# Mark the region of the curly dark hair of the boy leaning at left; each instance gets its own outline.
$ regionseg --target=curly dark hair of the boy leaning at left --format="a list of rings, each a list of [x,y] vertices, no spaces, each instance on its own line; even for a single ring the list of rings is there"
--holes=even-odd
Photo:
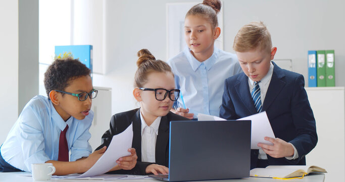
[[[72,79],[90,75],[90,73],[91,70],[78,59],[56,59],[44,73],[44,87],[48,98],[52,90],[64,90]]]

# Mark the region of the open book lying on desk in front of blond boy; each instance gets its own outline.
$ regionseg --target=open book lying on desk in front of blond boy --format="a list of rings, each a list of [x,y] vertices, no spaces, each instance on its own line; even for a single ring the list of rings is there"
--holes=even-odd
[[[290,178],[303,176],[305,173],[311,172],[327,172],[318,166],[305,165],[271,165],[266,168],[255,168],[251,170],[252,177],[273,177],[273,178]]]

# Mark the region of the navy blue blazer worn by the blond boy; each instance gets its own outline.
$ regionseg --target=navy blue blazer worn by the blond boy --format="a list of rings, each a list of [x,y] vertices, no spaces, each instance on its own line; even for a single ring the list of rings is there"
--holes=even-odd
[[[305,155],[316,146],[318,138],[315,118],[304,89],[304,77],[272,63],[273,75],[262,111],[266,111],[276,138],[293,144],[299,158],[288,160],[267,155],[268,165],[305,165]],[[220,117],[238,119],[256,113],[247,75],[239,73],[227,78]],[[258,150],[252,150],[251,168],[257,167],[257,161]]]

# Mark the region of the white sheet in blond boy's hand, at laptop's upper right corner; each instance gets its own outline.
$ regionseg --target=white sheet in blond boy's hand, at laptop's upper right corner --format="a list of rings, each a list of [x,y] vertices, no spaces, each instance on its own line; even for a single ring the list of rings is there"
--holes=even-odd
[[[252,120],[251,149],[261,149],[261,147],[258,147],[258,143],[273,145],[271,142],[264,140],[265,136],[275,139],[266,111],[237,120]]]

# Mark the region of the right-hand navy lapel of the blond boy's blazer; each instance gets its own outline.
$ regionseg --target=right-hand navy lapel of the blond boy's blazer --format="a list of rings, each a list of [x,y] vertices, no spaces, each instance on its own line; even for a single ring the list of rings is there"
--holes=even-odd
[[[285,74],[281,71],[281,68],[279,68],[278,65],[276,65],[274,62],[272,63],[274,65],[273,74],[267,89],[264,104],[262,106],[263,111],[268,109],[286,84],[286,82],[282,80]]]

